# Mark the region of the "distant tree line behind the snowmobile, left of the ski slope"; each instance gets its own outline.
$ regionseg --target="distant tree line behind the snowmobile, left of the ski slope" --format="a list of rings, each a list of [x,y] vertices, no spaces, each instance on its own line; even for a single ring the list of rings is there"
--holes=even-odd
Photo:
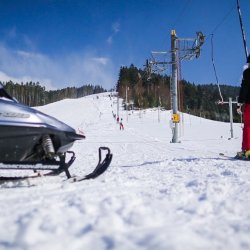
[[[99,85],[84,85],[79,88],[67,87],[47,91],[39,82],[26,82],[19,84],[8,81],[1,83],[11,96],[15,97],[19,102],[33,107],[60,101],[65,98],[79,98],[106,92],[106,90]]]

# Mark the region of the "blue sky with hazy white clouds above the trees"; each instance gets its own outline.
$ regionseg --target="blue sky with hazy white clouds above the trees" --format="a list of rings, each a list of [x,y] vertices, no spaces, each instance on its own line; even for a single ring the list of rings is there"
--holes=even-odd
[[[247,41],[250,1],[241,0]],[[169,51],[170,33],[206,42],[182,78],[240,85],[245,63],[236,0],[1,0],[0,80],[39,81],[47,88],[115,86],[119,68],[143,68],[151,51]],[[166,70],[170,74],[170,69]]]

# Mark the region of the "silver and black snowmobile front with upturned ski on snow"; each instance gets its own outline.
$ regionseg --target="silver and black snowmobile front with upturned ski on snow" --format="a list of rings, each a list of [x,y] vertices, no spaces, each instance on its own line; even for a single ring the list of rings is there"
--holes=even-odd
[[[69,149],[85,136],[54,117],[19,103],[0,83],[0,170],[33,170],[25,176],[0,176],[0,180],[26,179],[65,173],[68,179],[81,181],[95,178],[109,167],[112,154],[99,148],[99,162],[84,177],[72,177],[69,167],[75,153]],[[103,152],[106,152],[104,159]],[[7,171],[9,172],[9,171]]]

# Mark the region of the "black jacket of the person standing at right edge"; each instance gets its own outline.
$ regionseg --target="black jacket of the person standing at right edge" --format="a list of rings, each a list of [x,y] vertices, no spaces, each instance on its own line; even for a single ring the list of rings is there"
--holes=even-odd
[[[238,103],[250,103],[250,67],[243,71]]]

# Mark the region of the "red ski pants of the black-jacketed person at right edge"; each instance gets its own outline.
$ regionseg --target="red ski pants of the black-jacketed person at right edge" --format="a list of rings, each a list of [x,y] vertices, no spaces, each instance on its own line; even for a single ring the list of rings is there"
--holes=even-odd
[[[250,150],[250,104],[244,104],[243,119],[242,150]]]

